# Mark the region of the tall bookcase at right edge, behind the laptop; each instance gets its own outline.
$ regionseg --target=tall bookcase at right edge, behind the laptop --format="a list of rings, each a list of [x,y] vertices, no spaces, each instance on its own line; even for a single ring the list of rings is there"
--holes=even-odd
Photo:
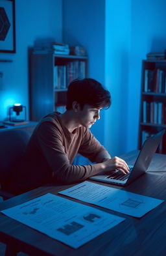
[[[166,60],[144,60],[142,63],[139,149],[147,137],[166,129]],[[158,153],[166,154],[166,135]]]

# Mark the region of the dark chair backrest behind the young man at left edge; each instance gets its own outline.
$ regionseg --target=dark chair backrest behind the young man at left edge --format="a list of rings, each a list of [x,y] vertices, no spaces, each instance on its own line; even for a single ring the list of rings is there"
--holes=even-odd
[[[25,130],[11,129],[0,132],[0,184],[16,169],[29,137]]]

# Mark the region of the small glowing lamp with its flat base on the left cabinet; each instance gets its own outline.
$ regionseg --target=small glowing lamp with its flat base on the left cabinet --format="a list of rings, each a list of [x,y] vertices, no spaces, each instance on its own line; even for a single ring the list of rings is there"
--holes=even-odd
[[[24,119],[17,119],[16,117],[21,113],[24,109]],[[12,111],[16,112],[16,117],[12,118]],[[9,108],[9,121],[4,121],[4,124],[9,125],[20,125],[20,124],[27,124],[27,112],[26,107],[21,105],[20,103],[14,104],[14,106]]]

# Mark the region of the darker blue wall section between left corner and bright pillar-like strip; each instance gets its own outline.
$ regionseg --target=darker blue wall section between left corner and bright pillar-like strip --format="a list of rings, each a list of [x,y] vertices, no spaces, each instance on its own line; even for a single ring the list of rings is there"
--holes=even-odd
[[[88,51],[89,78],[104,85],[105,1],[64,0],[64,41]],[[104,143],[104,113],[91,131]]]

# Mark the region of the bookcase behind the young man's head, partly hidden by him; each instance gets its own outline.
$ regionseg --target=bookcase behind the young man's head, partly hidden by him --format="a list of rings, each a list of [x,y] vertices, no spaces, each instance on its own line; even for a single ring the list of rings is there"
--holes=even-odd
[[[88,58],[53,53],[30,54],[30,120],[39,121],[53,111],[64,111],[67,85],[86,78]]]

